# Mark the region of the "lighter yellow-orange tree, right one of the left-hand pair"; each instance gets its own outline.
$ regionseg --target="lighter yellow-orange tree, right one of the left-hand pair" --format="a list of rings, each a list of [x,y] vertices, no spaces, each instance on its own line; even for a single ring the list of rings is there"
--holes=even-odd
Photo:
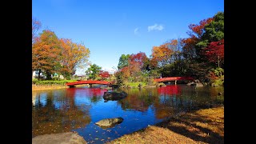
[[[60,39],[60,65],[59,71],[70,78],[78,67],[83,68],[88,62],[90,50],[82,43],[72,42],[71,39]]]

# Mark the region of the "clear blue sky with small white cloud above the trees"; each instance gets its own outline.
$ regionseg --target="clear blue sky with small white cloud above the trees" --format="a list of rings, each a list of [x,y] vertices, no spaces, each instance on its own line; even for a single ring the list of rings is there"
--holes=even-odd
[[[83,42],[90,62],[117,68],[122,54],[146,53],[188,26],[224,11],[224,0],[32,0],[32,15],[58,38]],[[84,70],[78,70],[82,74]]]

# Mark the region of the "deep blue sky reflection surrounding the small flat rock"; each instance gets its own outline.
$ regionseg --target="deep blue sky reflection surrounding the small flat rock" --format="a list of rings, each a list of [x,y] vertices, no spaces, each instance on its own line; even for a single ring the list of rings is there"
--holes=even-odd
[[[85,128],[74,130],[79,135],[86,139],[86,142],[106,142],[119,138],[124,134],[130,134],[134,131],[140,130],[148,125],[154,125],[161,120],[154,118],[154,110],[149,108],[146,112],[140,112],[137,110],[126,110],[123,112],[121,106],[117,106],[116,102],[103,102],[105,106],[99,103],[98,106],[92,106],[90,109],[91,122]],[[102,129],[95,125],[104,118],[124,118],[121,124],[118,124],[112,128]],[[146,122],[145,122],[146,120]],[[104,140],[102,140],[104,139]],[[102,141],[101,141],[102,140]]]

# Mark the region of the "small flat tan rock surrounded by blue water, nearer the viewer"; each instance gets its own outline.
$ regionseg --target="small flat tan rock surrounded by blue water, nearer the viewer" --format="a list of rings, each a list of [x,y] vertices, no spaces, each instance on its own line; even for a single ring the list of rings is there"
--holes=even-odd
[[[95,122],[96,125],[102,127],[102,128],[109,128],[109,127],[113,127],[119,123],[121,123],[123,121],[123,118],[119,117],[119,118],[106,118],[106,119],[102,119],[98,122]]]

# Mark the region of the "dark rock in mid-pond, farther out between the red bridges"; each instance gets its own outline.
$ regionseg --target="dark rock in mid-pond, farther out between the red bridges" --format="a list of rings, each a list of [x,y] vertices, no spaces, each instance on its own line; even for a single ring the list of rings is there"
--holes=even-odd
[[[117,92],[117,91],[106,91],[104,94],[103,94],[103,98],[105,101],[117,101],[119,99],[122,99],[122,98],[126,98],[127,96],[127,93],[122,91],[122,92]]]

